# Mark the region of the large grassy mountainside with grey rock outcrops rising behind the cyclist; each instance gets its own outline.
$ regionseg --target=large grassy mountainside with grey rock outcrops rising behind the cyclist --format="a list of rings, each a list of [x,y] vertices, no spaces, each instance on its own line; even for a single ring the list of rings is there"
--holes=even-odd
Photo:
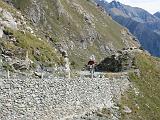
[[[127,30],[122,34],[122,26],[86,0],[14,0],[8,3],[22,12],[26,27],[31,29],[41,42],[55,48],[59,54],[67,51],[71,63],[76,67],[82,68],[92,54],[95,54],[99,61],[118,49],[139,46],[134,36]],[[23,27],[19,27],[18,30],[23,30]],[[17,44],[11,46],[16,47]],[[32,49],[32,45],[29,46],[29,56],[52,63],[53,55],[52,58],[48,58],[44,53],[44,57],[39,58],[43,50]],[[36,52],[40,55],[36,55]]]

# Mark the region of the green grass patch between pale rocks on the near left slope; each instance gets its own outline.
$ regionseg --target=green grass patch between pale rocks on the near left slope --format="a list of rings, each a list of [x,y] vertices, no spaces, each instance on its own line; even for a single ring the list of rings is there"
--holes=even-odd
[[[28,32],[24,34],[21,31],[11,29],[6,29],[5,32],[12,34],[16,38],[16,42],[3,41],[2,45],[17,57],[24,59],[26,54],[24,52],[28,51],[30,59],[44,63],[44,65],[53,65],[59,62],[58,53],[46,40],[39,40]],[[19,48],[25,50],[23,55],[17,54]]]

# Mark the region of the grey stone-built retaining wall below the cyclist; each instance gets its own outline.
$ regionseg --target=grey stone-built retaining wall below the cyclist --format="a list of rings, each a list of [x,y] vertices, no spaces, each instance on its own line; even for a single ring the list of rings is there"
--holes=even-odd
[[[0,117],[2,120],[119,120],[118,103],[130,86],[126,73],[95,72],[93,79],[89,71],[78,73],[80,76],[70,79],[0,78]],[[103,114],[102,109],[108,110],[109,115]]]

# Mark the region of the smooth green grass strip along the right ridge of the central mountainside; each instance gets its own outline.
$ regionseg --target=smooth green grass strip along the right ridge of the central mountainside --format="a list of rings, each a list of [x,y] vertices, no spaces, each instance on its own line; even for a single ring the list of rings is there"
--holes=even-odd
[[[101,9],[96,8],[91,2],[86,2],[86,0],[78,0],[79,4],[83,8],[94,15],[97,20],[94,20],[96,31],[100,33],[102,40],[101,42],[107,43],[112,42],[116,48],[120,49],[124,47],[121,40],[121,29],[122,27],[114,22],[109,16],[105,15]]]

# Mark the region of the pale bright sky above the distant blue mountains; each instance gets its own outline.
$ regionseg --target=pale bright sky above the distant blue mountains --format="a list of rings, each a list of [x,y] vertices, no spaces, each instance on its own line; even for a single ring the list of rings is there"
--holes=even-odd
[[[111,2],[112,0],[106,0],[106,1]],[[160,0],[117,0],[117,1],[133,7],[143,8],[152,14],[154,14],[157,11],[160,11]]]

